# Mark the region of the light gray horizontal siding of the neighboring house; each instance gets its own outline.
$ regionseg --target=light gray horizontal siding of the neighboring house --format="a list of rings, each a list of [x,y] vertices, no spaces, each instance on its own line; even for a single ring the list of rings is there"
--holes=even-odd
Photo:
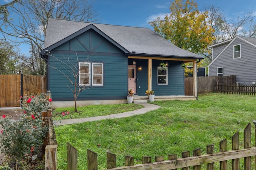
[[[233,46],[241,44],[241,58],[233,59]],[[217,68],[223,67],[223,76],[236,75],[236,81],[246,85],[256,82],[256,47],[236,38],[209,66],[209,76],[217,76]]]

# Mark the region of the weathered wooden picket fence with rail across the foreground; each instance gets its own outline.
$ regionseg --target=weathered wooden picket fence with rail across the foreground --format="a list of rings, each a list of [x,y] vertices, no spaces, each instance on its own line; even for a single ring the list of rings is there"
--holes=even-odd
[[[256,131],[256,122],[255,131]],[[256,155],[256,147],[251,147],[251,124],[244,129],[244,149],[239,148],[239,133],[232,136],[232,150],[227,151],[227,140],[220,141],[220,152],[214,153],[214,145],[206,146],[207,154],[201,155],[201,149],[193,150],[193,156],[190,157],[190,151],[182,152],[182,158],[177,158],[177,154],[168,155],[168,160],[164,156],[156,156],[156,162],[151,162],[150,156],[142,157],[142,164],[134,165],[132,156],[125,156],[125,166],[116,167],[116,155],[107,152],[107,169],[111,170],[200,170],[202,164],[206,164],[207,170],[214,170],[214,163],[220,162],[220,170],[227,170],[227,161],[232,160],[232,169],[239,170],[240,158],[244,158],[244,170],[251,170],[251,156]],[[67,170],[77,170],[77,150],[67,143],[68,147],[68,167]],[[88,170],[98,170],[97,153],[87,150]]]

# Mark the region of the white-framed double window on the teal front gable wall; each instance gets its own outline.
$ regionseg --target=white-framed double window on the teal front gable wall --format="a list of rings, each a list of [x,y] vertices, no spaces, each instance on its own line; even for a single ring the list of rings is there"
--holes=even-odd
[[[103,86],[103,63],[79,63],[80,86]]]

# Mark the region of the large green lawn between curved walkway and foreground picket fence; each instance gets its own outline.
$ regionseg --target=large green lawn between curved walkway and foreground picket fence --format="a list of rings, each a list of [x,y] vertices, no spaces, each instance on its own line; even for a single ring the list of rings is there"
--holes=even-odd
[[[79,170],[87,169],[87,149],[98,154],[98,168],[106,169],[106,150],[117,155],[119,167],[124,166],[125,155],[134,156],[134,163],[141,164],[142,156],[151,156],[154,162],[155,156],[168,160],[168,154],[177,154],[180,158],[181,152],[187,150],[192,156],[192,150],[197,148],[206,154],[206,145],[212,143],[214,152],[219,152],[219,142],[225,138],[231,150],[236,131],[240,133],[240,148],[243,148],[244,128],[256,119],[256,96],[202,94],[198,100],[154,104],[162,108],[122,119],[55,127],[58,170],[66,169],[66,142],[78,150]],[[251,126],[252,146],[255,146],[253,123]],[[228,161],[228,166],[231,162]],[[219,168],[218,164],[215,167]]]

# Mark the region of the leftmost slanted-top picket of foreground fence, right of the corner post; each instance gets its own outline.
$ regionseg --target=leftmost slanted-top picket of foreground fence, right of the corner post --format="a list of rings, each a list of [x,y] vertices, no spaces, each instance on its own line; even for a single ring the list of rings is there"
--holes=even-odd
[[[67,142],[67,170],[77,170],[77,150]]]

